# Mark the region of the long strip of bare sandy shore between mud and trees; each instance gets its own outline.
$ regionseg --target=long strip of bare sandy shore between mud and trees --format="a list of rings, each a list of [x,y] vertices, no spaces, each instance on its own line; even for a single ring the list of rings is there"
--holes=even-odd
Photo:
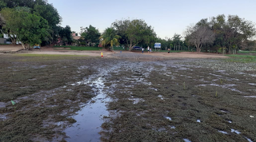
[[[6,52],[17,52],[22,49],[22,45],[0,45],[0,53]],[[26,51],[22,53],[33,53],[33,54],[58,54],[58,55],[87,55],[93,57],[100,57],[103,53],[104,57],[121,57],[121,58],[227,58],[215,53],[165,53],[165,52],[153,52],[153,53],[141,53],[129,52],[129,51],[114,51],[110,52],[107,50],[100,51],[76,51],[76,50],[66,50],[66,49],[53,49],[52,47],[42,47],[42,49],[35,49],[33,51]]]

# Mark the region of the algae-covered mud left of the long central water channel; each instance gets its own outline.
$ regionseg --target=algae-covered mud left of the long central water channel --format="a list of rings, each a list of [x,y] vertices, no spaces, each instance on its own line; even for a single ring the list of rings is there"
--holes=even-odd
[[[70,116],[80,109],[79,104],[94,97],[88,86],[69,85],[94,73],[93,69],[79,68],[91,65],[94,59],[13,55],[0,58],[0,102],[4,104],[0,114],[6,116],[0,120],[0,141],[52,140],[65,136],[62,126],[56,123],[62,121],[63,127],[74,123]],[[15,106],[10,104],[11,100],[16,102]]]

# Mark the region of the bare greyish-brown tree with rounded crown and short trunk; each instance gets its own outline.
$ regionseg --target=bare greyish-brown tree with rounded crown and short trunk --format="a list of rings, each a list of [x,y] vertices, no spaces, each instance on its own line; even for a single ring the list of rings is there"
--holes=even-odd
[[[214,32],[207,26],[195,26],[192,31],[188,38],[189,42],[196,46],[197,52],[201,52],[202,45],[213,43],[215,40]]]

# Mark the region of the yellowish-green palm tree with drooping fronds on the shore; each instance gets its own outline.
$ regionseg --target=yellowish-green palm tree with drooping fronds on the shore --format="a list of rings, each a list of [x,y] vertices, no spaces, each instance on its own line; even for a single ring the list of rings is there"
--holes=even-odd
[[[99,37],[99,39],[102,43],[102,45],[110,45],[110,49],[113,50],[113,45],[119,45],[118,39],[121,38],[119,35],[116,34],[116,31],[114,28],[106,28],[106,30],[103,32],[102,36]]]

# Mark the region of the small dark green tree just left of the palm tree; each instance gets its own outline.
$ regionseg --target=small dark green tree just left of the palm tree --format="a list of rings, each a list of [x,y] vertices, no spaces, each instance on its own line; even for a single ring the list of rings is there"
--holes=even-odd
[[[101,34],[99,33],[98,29],[96,29],[94,26],[89,26],[86,28],[81,27],[81,37],[91,45],[92,43],[98,44],[99,37]]]

